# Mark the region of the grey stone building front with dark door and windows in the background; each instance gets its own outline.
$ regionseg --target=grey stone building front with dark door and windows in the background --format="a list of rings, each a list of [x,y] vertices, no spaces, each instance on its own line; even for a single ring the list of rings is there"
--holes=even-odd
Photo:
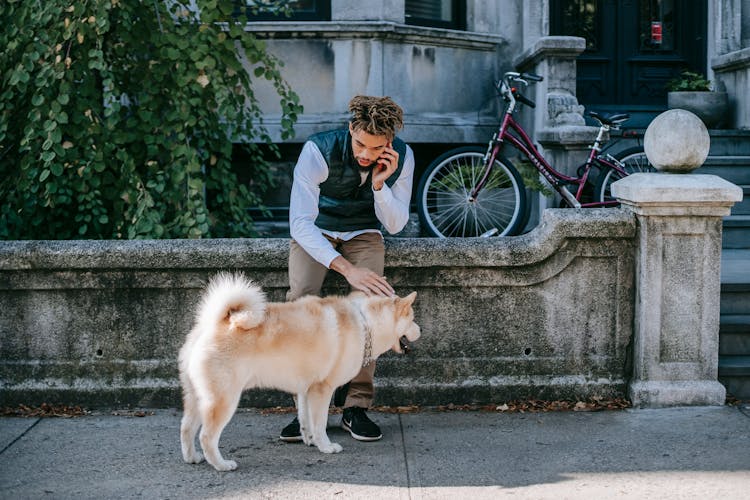
[[[390,95],[417,175],[445,150],[486,143],[501,110],[494,82],[529,71],[535,110],[522,121],[561,170],[595,133],[586,110],[629,112],[641,130],[666,109],[684,69],[729,94],[730,129],[750,129],[750,0],[303,0],[290,18],[250,17],[247,30],[284,62],[304,114],[281,141],[272,88],[265,123],[284,153],[268,204],[288,206],[291,167],[312,133],[344,126],[356,94]],[[241,165],[238,168],[242,168]],[[416,184],[416,181],[415,181]],[[286,200],[286,201],[285,201]],[[544,206],[544,202],[542,202]]]

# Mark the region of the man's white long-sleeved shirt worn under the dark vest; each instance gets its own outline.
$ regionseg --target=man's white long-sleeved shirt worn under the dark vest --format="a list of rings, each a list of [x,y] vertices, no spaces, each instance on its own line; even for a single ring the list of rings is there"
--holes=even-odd
[[[391,234],[401,231],[409,220],[412,179],[414,177],[414,153],[406,146],[406,158],[401,173],[389,187],[384,183],[380,191],[373,190],[375,216]],[[341,255],[323,236],[348,241],[367,233],[380,233],[377,229],[359,231],[328,231],[315,225],[318,218],[320,184],[328,179],[328,164],[313,142],[306,142],[294,167],[292,194],[289,202],[289,231],[310,256],[330,268],[331,261]]]

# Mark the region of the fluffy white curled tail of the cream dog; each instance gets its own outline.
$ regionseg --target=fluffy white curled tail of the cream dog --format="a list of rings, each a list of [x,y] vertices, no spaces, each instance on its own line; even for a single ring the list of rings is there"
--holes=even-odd
[[[229,330],[249,330],[263,322],[266,296],[242,273],[221,272],[208,282],[198,308],[198,322],[206,326],[229,322]]]

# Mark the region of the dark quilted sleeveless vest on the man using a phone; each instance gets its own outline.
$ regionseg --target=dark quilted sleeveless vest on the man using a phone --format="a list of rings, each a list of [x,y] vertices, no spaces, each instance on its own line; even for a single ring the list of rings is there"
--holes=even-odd
[[[328,179],[320,184],[319,214],[315,225],[329,231],[358,231],[379,229],[372,194],[372,168],[360,186],[360,167],[352,153],[349,129],[332,130],[315,134],[309,139],[320,150],[328,164]],[[385,182],[392,186],[401,175],[406,158],[406,143],[393,139],[393,149],[398,152],[398,168]]]

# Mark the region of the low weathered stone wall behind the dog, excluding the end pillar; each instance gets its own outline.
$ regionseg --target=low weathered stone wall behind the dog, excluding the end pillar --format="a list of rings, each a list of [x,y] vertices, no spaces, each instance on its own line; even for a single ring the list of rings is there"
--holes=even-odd
[[[377,404],[624,395],[633,333],[632,214],[548,210],[515,238],[387,241],[418,292],[416,353],[386,355]],[[177,350],[203,283],[243,270],[283,300],[286,239],[0,242],[0,404],[179,402]],[[344,293],[333,277],[326,289]],[[289,404],[251,391],[243,404]]]

